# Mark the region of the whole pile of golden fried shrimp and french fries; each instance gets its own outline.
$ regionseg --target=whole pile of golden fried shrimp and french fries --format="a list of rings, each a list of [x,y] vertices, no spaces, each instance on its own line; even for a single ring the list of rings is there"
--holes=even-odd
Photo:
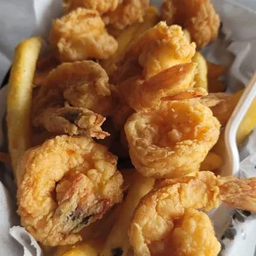
[[[7,97],[21,225],[46,255],[217,255],[205,211],[256,211],[256,178],[217,176],[243,91],[199,50],[210,0],[64,0],[47,47],[17,46]],[[238,145],[256,126],[248,114]],[[7,162],[5,154],[0,154]],[[204,211],[201,211],[204,210]]]

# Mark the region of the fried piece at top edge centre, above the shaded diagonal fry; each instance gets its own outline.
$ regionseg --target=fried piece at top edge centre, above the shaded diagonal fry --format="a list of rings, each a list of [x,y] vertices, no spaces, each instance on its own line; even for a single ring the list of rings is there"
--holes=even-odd
[[[144,21],[148,7],[149,0],[123,0],[115,11],[106,12],[102,18],[106,25],[122,30],[126,26]]]

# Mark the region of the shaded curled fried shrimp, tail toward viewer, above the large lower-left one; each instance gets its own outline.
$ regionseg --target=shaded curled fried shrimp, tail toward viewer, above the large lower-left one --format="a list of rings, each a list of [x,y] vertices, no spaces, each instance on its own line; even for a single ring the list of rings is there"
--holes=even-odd
[[[33,126],[57,134],[91,135],[99,139],[116,96],[107,73],[92,61],[65,63],[50,72],[36,97]]]

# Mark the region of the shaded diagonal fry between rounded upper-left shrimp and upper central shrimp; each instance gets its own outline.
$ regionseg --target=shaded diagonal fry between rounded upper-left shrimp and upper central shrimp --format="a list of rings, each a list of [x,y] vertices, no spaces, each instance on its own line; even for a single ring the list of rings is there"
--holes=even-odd
[[[103,69],[106,70],[108,75],[111,75],[116,71],[116,63],[121,60],[126,54],[130,43],[138,38],[142,33],[149,30],[150,27],[157,24],[159,21],[159,12],[155,7],[149,7],[145,13],[145,20],[142,23],[137,23],[128,26],[126,29],[121,31],[120,35],[116,37],[118,42],[118,49],[116,53],[108,59],[104,59],[100,62]]]

